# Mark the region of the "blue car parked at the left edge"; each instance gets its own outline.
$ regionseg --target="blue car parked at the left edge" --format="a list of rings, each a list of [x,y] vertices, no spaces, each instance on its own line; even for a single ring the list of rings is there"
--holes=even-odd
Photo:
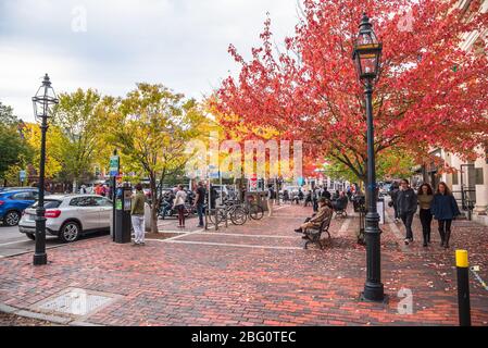
[[[1,190],[0,221],[3,221],[3,225],[16,226],[22,212],[34,204],[38,196],[37,188]]]

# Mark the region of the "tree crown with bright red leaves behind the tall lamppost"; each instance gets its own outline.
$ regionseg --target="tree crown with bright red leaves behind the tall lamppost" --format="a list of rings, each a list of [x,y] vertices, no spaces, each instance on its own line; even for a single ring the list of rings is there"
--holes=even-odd
[[[375,152],[396,147],[425,158],[434,146],[475,156],[488,137],[488,60],[460,44],[465,33],[487,27],[488,13],[465,21],[458,2],[305,0],[281,51],[272,44],[268,18],[250,61],[229,48],[240,74],[223,82],[216,100],[221,112],[239,119],[225,126],[274,127],[365,181],[364,91],[352,50],[366,12],[384,44],[374,91]]]

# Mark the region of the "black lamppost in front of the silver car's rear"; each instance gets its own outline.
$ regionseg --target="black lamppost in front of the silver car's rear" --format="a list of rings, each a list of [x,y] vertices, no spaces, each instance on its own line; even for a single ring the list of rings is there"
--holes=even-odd
[[[45,209],[45,166],[46,166],[46,133],[48,132],[48,117],[51,116],[52,108],[59,103],[51,80],[46,74],[42,85],[33,97],[34,115],[40,121],[40,164],[39,164],[39,201],[36,210],[36,251],[34,253],[34,265],[48,263],[46,253],[46,209]]]

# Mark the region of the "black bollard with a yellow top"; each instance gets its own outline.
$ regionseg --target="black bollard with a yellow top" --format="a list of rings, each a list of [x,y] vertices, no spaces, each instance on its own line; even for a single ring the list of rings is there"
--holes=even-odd
[[[460,326],[471,326],[470,303],[470,262],[466,250],[455,251],[455,266],[458,269],[458,304]]]

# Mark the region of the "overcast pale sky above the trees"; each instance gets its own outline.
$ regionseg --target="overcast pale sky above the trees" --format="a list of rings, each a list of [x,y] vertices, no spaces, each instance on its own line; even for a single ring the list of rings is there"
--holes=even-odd
[[[45,73],[57,92],[149,82],[201,99],[238,72],[229,44],[259,45],[266,12],[276,42],[293,34],[297,0],[0,0],[0,101],[33,121]]]

